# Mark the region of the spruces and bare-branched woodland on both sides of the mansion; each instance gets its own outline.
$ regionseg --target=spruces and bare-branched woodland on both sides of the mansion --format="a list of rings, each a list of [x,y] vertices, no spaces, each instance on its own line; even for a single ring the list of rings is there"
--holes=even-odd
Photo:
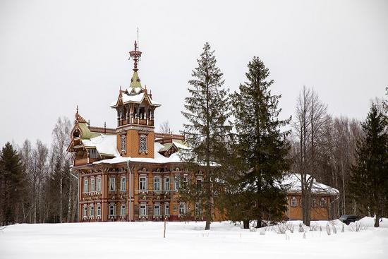
[[[245,81],[231,92],[215,54],[206,43],[182,112],[182,133],[192,147],[182,157],[206,178],[202,186],[186,183],[181,196],[203,208],[206,229],[216,209],[246,228],[281,221],[286,193],[279,182],[291,172],[301,174],[304,224],[310,225],[316,180],[340,192],[332,218],[376,215],[378,227],[388,216],[388,89],[383,100],[371,102],[365,121],[332,116],[319,92],[303,85],[295,111],[281,111],[284,97],[272,92],[276,82],[260,57],[239,71]],[[76,221],[78,181],[66,152],[71,128],[59,118],[51,145],[25,140],[2,147],[0,224]]]

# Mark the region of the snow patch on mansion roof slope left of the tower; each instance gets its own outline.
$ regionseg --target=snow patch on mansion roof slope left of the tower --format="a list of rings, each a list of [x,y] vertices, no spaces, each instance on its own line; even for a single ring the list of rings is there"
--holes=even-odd
[[[112,155],[119,156],[119,152],[116,148],[117,137],[116,135],[100,134],[95,138],[83,139],[82,143],[85,147],[95,147],[100,155]]]

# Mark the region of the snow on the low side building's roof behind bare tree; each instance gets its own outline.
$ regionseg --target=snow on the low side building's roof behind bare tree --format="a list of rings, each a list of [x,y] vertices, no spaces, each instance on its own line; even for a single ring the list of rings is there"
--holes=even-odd
[[[307,179],[310,175],[307,175]],[[301,174],[288,174],[284,176],[281,181],[281,185],[289,186],[287,191],[300,193],[301,192]],[[318,183],[317,181],[313,182],[312,186],[313,193],[329,193],[329,194],[339,194],[339,191],[336,188],[332,188],[323,183]]]

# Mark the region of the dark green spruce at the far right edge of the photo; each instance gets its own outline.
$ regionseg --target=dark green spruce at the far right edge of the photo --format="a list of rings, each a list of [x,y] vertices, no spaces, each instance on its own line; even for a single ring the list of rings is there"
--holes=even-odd
[[[361,125],[364,136],[357,143],[356,163],[351,168],[351,193],[360,204],[362,213],[375,214],[375,227],[379,227],[384,207],[387,207],[387,117],[372,104]]]

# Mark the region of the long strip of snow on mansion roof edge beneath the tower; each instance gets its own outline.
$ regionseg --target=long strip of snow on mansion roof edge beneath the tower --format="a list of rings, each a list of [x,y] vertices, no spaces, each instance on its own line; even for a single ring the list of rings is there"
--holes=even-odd
[[[116,148],[116,144],[114,144],[114,147]],[[121,162],[144,162],[144,163],[157,163],[157,164],[164,164],[164,163],[174,163],[174,162],[183,162],[181,158],[179,157],[179,152],[175,152],[170,157],[164,157],[164,155],[159,154],[159,150],[162,149],[163,145],[160,143],[155,142],[154,144],[154,158],[146,158],[146,157],[121,157],[120,155],[117,155],[114,158],[111,159],[104,159],[97,162],[94,162],[93,164],[116,164]]]

